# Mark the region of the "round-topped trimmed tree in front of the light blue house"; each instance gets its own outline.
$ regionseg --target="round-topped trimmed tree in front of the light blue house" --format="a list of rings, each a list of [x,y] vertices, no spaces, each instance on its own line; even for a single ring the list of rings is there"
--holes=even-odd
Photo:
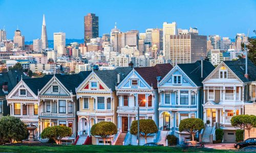
[[[193,141],[196,133],[202,129],[204,129],[204,122],[200,118],[186,118],[180,121],[179,131],[189,133]]]

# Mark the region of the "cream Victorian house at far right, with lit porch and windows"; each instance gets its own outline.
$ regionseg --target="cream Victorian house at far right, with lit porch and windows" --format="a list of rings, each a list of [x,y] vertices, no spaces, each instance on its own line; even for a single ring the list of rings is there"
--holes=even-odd
[[[255,79],[256,66],[249,60],[246,66],[245,59],[238,59],[223,61],[203,81],[204,122],[208,120],[213,130],[216,127],[223,129],[224,142],[236,142],[238,127],[233,127],[230,119],[233,116],[245,114],[245,103],[254,100]]]

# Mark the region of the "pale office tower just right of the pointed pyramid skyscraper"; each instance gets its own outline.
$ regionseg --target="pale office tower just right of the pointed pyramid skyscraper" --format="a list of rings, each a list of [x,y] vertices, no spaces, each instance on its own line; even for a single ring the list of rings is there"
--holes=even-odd
[[[53,47],[54,50],[57,50],[57,53],[62,55],[66,54],[66,51],[63,50],[66,46],[66,33],[53,33]]]

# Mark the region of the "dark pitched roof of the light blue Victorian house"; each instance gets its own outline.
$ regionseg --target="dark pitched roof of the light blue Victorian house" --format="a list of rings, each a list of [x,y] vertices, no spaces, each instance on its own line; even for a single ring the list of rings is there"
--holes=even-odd
[[[201,61],[177,65],[198,87],[203,86],[203,79],[206,78],[215,69],[214,65],[208,61],[203,60],[203,78],[201,78]]]

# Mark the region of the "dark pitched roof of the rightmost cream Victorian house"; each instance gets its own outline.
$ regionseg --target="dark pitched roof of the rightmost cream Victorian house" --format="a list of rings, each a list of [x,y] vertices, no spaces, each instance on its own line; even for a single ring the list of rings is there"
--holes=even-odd
[[[256,65],[248,59],[248,75],[245,78],[245,59],[238,59],[237,61],[223,61],[233,73],[235,73],[242,82],[251,82],[256,80]]]

